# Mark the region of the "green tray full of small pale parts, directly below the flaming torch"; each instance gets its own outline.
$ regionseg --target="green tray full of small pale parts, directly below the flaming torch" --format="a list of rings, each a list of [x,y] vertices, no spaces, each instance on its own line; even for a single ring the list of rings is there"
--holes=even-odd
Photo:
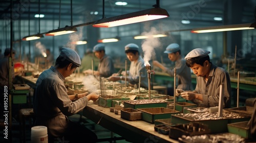
[[[145,99],[146,101],[149,101],[150,99]],[[123,105],[124,108],[133,108],[133,109],[138,109],[138,108],[153,108],[153,107],[167,107],[167,102],[161,99],[151,99],[152,101],[159,101],[159,102],[152,102],[152,103],[136,103],[136,101],[141,101],[141,100],[134,100],[134,103],[124,101]]]

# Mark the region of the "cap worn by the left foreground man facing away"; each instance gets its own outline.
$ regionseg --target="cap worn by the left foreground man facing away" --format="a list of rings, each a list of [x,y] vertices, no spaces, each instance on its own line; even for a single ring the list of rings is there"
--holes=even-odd
[[[75,50],[70,49],[69,47],[62,47],[60,49],[59,56],[66,58],[68,61],[74,63],[77,66],[81,65],[81,59]]]

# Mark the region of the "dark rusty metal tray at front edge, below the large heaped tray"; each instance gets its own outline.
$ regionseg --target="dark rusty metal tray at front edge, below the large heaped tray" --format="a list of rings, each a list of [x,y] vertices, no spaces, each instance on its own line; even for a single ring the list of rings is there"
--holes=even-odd
[[[188,124],[179,124],[169,127],[169,137],[178,139],[182,135],[202,135],[210,133],[207,125],[199,122],[191,122]]]

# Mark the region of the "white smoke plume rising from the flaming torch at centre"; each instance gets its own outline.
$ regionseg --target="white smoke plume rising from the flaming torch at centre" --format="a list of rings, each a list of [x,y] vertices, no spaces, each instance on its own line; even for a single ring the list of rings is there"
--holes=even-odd
[[[149,61],[153,56],[156,55],[155,49],[160,47],[161,43],[159,38],[154,38],[153,35],[158,34],[156,28],[152,27],[150,32],[143,32],[141,35],[148,36],[145,40],[142,41],[142,51],[144,53],[144,65],[150,65]]]

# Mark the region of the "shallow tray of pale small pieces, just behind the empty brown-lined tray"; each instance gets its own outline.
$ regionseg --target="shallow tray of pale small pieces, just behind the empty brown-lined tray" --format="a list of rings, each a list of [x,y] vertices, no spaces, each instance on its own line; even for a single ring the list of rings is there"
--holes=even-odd
[[[130,100],[123,102],[124,108],[153,108],[153,107],[166,107],[167,102],[162,99],[142,99],[142,100]]]

